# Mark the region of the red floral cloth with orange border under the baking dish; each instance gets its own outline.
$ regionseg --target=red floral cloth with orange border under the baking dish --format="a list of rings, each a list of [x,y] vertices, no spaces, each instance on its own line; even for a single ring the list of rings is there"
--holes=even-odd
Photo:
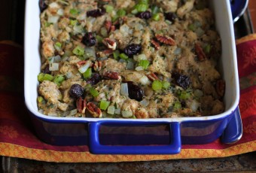
[[[175,155],[95,155],[87,146],[53,146],[40,141],[23,100],[23,49],[0,42],[0,155],[47,162],[132,162],[233,156],[256,150],[256,35],[236,41],[243,135],[236,144],[182,145]]]

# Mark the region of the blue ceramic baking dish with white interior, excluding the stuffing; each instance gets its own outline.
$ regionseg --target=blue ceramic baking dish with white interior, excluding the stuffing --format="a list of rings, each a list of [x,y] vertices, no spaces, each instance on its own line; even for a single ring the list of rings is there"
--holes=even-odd
[[[239,80],[230,0],[209,0],[221,35],[219,69],[226,81],[225,111],[210,117],[147,120],[49,117],[38,112],[38,80],[41,59],[38,1],[26,1],[25,101],[35,132],[53,145],[88,145],[91,153],[174,154],[182,144],[206,144],[222,138],[224,143],[242,135],[239,116]]]

